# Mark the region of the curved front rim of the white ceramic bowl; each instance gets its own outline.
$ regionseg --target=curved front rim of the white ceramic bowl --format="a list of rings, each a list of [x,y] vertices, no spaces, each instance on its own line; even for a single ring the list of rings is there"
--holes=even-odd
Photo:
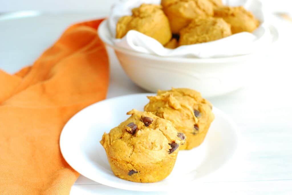
[[[231,57],[218,57],[218,58],[187,58],[187,57],[165,57],[154,54],[141,53],[133,50],[129,50],[127,48],[119,47],[114,45],[108,38],[106,38],[105,31],[110,34],[107,28],[108,19],[105,19],[101,22],[98,27],[98,36],[102,40],[105,45],[113,48],[118,52],[125,53],[128,55],[132,55],[135,57],[147,58],[148,60],[156,60],[156,61],[165,61],[165,62],[185,62],[185,63],[222,63],[222,62],[238,62],[245,61],[251,57],[253,57],[256,53],[245,54],[245,55],[237,55]]]

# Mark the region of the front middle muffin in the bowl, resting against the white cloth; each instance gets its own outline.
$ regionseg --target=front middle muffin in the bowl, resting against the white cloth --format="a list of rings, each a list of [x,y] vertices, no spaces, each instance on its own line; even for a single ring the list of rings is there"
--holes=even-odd
[[[179,45],[215,41],[231,34],[230,24],[222,18],[197,17],[180,31]]]

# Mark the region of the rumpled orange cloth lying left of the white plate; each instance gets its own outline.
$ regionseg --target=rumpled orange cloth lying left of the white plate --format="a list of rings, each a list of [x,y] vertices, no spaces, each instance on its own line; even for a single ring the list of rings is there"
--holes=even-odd
[[[31,67],[0,70],[1,195],[69,194],[79,174],[63,159],[59,136],[76,112],[106,97],[101,21],[69,27]]]

